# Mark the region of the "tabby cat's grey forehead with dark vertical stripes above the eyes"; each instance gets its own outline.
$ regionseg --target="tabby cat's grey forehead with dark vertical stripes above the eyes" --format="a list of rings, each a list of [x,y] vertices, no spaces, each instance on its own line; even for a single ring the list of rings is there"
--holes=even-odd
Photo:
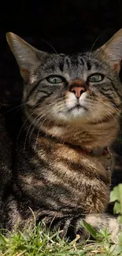
[[[76,76],[87,77],[87,72],[97,72],[102,69],[102,63],[92,54],[53,54],[46,60],[46,63],[40,68],[45,74],[55,73],[68,76],[68,79]]]

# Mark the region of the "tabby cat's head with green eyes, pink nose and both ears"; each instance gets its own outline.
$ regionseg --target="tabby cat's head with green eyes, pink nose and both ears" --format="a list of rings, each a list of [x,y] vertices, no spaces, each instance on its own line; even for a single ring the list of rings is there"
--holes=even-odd
[[[101,123],[119,113],[122,29],[93,53],[71,56],[39,51],[11,32],[6,37],[24,79],[29,118],[76,125]]]

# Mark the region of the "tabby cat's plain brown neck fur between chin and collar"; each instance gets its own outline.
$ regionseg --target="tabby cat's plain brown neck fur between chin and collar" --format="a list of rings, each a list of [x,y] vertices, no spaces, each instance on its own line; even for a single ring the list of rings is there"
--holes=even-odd
[[[93,148],[104,149],[109,147],[113,140],[116,139],[118,128],[113,120],[109,120],[104,124],[85,124],[85,126],[84,124],[83,126],[59,125],[50,122],[41,126],[39,136],[44,134],[60,143],[68,143],[71,146],[78,146],[87,150],[92,150]]]

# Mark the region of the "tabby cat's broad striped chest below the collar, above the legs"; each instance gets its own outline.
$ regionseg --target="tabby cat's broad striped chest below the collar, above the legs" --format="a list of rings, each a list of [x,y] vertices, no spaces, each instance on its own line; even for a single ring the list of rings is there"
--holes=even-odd
[[[102,162],[65,144],[41,139],[33,150],[21,152],[17,184],[37,205],[54,210],[105,210],[109,200]]]

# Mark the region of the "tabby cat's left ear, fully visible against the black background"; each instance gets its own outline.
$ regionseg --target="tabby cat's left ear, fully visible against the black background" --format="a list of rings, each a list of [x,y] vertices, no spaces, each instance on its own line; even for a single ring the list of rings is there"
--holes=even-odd
[[[27,83],[32,82],[34,80],[33,73],[39,65],[39,59],[45,53],[35,49],[35,47],[11,32],[6,33],[6,39],[17,60],[20,67],[20,74],[24,81]]]

